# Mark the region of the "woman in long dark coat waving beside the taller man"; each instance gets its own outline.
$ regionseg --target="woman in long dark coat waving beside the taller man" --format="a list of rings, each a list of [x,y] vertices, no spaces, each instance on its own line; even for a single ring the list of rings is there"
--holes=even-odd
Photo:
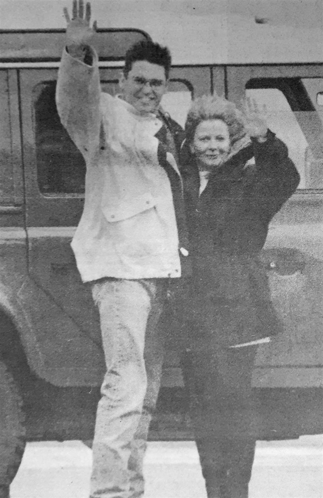
[[[268,226],[300,177],[258,109],[193,102],[181,174],[193,277],[186,316],[192,418],[208,498],[246,498],[256,445],[251,375],[257,345],[278,332],[258,260]]]

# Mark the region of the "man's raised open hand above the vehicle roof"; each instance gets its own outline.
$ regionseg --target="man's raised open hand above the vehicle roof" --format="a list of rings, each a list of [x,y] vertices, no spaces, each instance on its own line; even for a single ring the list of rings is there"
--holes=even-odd
[[[66,7],[63,9],[64,16],[67,22],[66,28],[66,45],[68,52],[72,56],[82,55],[82,48],[85,45],[91,45],[93,36],[97,29],[96,21],[90,27],[91,19],[91,4],[86,3],[84,17],[84,0],[73,0],[72,19],[70,19]]]

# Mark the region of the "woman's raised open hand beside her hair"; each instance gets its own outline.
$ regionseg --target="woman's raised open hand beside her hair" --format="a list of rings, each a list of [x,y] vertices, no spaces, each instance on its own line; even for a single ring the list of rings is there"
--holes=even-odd
[[[264,105],[261,113],[257,102],[254,99],[246,98],[242,101],[243,115],[245,118],[245,128],[251,138],[255,138],[259,142],[264,142],[267,139],[267,109]]]

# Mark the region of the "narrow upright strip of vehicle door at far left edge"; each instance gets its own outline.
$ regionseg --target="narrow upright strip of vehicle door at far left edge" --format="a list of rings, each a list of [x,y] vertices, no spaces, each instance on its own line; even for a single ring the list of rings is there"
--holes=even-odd
[[[17,72],[14,69],[1,69],[0,309],[4,312],[10,308],[15,317],[18,314],[17,292],[26,273],[26,233],[19,125]],[[3,323],[1,323],[2,327]],[[4,348],[2,334],[0,335],[1,351]]]

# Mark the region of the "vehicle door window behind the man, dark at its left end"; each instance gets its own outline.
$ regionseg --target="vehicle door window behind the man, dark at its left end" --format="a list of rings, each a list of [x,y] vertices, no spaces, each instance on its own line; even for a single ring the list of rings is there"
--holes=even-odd
[[[116,95],[118,80],[101,82],[103,92]],[[44,81],[32,92],[38,188],[44,196],[84,194],[85,161],[61,125],[55,104],[55,81]],[[179,124],[185,123],[192,100],[192,86],[170,80],[162,107]]]

